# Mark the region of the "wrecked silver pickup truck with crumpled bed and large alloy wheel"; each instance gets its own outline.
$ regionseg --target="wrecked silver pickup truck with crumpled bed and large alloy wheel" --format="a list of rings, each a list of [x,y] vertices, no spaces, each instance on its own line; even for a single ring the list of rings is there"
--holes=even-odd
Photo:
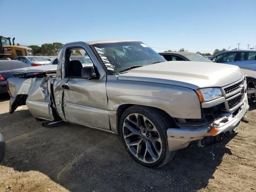
[[[87,62],[71,60],[74,54]],[[163,166],[191,141],[202,145],[232,134],[249,108],[239,67],[167,62],[143,42],[72,42],[57,59],[57,68],[13,70],[24,75],[8,78],[10,113],[26,104],[46,124],[119,134],[130,156],[150,168]]]

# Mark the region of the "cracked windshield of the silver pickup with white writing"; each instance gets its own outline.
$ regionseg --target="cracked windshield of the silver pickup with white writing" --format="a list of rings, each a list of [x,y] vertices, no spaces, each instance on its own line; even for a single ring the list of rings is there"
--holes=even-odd
[[[109,74],[116,74],[126,68],[166,61],[152,48],[142,42],[115,42],[93,45]]]

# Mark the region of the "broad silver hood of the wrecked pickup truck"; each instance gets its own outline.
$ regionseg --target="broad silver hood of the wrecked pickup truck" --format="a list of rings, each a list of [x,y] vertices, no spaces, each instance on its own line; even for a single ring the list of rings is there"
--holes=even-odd
[[[191,89],[223,87],[244,76],[238,66],[193,61],[168,61],[135,68],[118,80],[171,84]]]

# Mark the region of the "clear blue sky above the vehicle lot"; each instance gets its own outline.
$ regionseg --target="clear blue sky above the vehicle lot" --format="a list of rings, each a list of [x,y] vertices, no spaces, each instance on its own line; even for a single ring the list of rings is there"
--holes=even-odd
[[[256,0],[0,0],[0,7],[1,35],[21,44],[132,39],[156,51],[200,52],[256,46]]]

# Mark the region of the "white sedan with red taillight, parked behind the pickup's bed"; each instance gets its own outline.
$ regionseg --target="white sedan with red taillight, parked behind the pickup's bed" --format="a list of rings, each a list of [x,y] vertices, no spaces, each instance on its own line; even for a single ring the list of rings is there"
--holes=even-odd
[[[40,65],[47,65],[50,61],[43,57],[38,56],[19,56],[16,57],[14,60],[19,60],[21,62],[26,63],[28,66],[40,66]]]

